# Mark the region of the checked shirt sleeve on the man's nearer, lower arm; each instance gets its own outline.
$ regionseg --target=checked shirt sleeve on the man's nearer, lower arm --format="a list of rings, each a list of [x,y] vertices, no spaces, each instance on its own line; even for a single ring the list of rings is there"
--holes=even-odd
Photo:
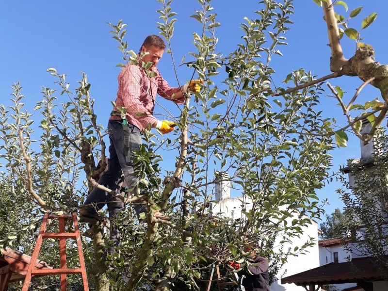
[[[136,119],[144,128],[157,119],[146,110],[140,101],[142,74],[137,66],[127,66],[121,72],[118,80],[118,91],[122,97],[129,120]]]

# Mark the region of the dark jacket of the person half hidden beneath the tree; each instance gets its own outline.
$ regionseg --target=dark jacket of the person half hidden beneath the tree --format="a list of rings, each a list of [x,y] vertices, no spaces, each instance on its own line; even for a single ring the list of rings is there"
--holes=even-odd
[[[255,263],[259,263],[256,267],[249,266],[247,270],[242,270],[238,273],[242,278],[242,286],[245,291],[270,291],[270,285],[268,280],[268,260],[263,257],[256,257]],[[253,275],[252,275],[253,274]]]

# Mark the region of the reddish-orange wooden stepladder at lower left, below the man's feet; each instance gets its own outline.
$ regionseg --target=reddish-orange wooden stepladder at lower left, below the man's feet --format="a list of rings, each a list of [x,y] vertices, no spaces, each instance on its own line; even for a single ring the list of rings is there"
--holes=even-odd
[[[65,232],[65,219],[72,218],[75,232]],[[46,232],[47,222],[49,219],[58,219],[59,232]],[[38,259],[39,251],[42,246],[43,239],[59,239],[59,251],[60,251],[60,269],[47,269],[40,270],[35,269],[35,262]],[[66,268],[66,239],[74,239],[77,242],[78,255],[80,258],[80,268]],[[30,287],[31,278],[33,275],[60,275],[61,278],[61,291],[66,291],[66,274],[81,274],[84,291],[89,291],[88,280],[86,277],[85,260],[83,258],[82,243],[80,229],[78,227],[77,215],[74,212],[72,215],[53,215],[48,212],[43,217],[42,226],[40,228],[38,238],[36,240],[35,248],[32,253],[31,263],[27,269],[26,278],[24,279],[22,291],[28,291]]]

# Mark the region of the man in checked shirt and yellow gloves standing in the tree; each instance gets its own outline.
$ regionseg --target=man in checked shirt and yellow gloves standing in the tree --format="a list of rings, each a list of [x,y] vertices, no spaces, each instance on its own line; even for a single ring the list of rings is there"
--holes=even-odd
[[[118,75],[115,108],[108,122],[110,140],[108,170],[98,180],[98,184],[111,190],[119,190],[125,177],[129,192],[134,193],[138,177],[134,174],[131,152],[140,149],[142,130],[152,127],[159,129],[162,134],[174,130],[174,122],[158,120],[153,116],[156,95],[182,104],[188,90],[199,92],[199,84],[203,83],[193,80],[181,87],[170,87],[156,67],[165,47],[161,37],[147,36],[140,49],[138,63],[128,63]],[[95,188],[86,198],[80,214],[85,217],[96,217],[97,211],[105,204],[108,206],[110,218],[117,217],[118,212],[124,207],[120,198]],[[135,203],[134,209],[138,217],[140,213],[147,212],[141,203]],[[160,211],[154,211],[154,216],[164,220],[170,219]],[[109,253],[112,255],[114,246],[120,243],[120,232],[114,224],[110,238],[113,246],[110,247]]]

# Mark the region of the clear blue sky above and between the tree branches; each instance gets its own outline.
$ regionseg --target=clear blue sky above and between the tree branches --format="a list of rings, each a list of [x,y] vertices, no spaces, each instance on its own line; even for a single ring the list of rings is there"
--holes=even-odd
[[[364,6],[361,14],[350,22],[349,27],[359,29],[364,17],[377,12],[375,22],[362,32],[364,42],[371,44],[376,52],[376,60],[388,64],[387,4],[383,0],[348,0],[349,10]],[[218,14],[221,27],[216,30],[219,38],[218,51],[225,55],[235,49],[240,42],[240,23],[243,17],[255,17],[254,11],[261,8],[258,0],[212,0],[214,12]],[[0,4],[0,99],[1,103],[9,105],[10,87],[20,81],[22,93],[26,96],[27,109],[32,111],[35,103],[41,99],[41,87],[54,87],[54,79],[46,73],[47,68],[55,67],[58,72],[67,75],[70,88],[76,88],[77,80],[81,79],[81,71],[88,76],[92,84],[92,97],[96,99],[98,120],[104,126],[111,110],[110,102],[114,100],[117,91],[117,74],[120,71],[116,64],[120,63],[121,52],[116,48],[116,41],[108,33],[110,27],[106,24],[117,24],[120,19],[128,24],[126,40],[129,49],[137,51],[148,34],[159,33],[157,22],[160,21],[156,12],[161,3],[155,0],[122,1],[122,0],[83,0],[83,1],[1,1]],[[172,41],[173,56],[180,63],[183,56],[190,59],[189,51],[194,50],[192,33],[199,32],[196,20],[189,16],[194,9],[199,9],[196,0],[174,0],[173,11],[177,12],[174,37]],[[323,11],[312,0],[295,0],[295,14],[291,20],[294,25],[286,33],[289,46],[280,47],[283,57],[274,58],[273,67],[276,78],[283,80],[291,70],[304,67],[314,75],[324,76],[330,73],[330,49],[327,46],[326,24],[323,21]],[[336,10],[344,14],[342,6]],[[350,58],[355,51],[355,42],[346,37],[341,41],[345,57]],[[171,66],[171,57],[164,54],[158,65],[163,77],[171,84],[177,81]],[[190,79],[192,70],[178,67],[180,84]],[[356,88],[362,83],[356,78],[343,77],[331,80],[334,86],[341,86],[350,99]],[[360,98],[374,99],[379,92],[372,88],[362,91]],[[363,99],[363,100],[364,100]],[[365,102],[364,100],[364,102]],[[337,102],[333,98],[323,97],[322,110],[327,117],[335,117],[342,124],[345,119]],[[163,103],[168,106],[168,103]],[[108,108],[108,109],[107,109]],[[155,110],[158,112],[158,107]],[[333,152],[333,171],[340,165],[345,165],[349,158],[360,156],[359,141],[350,137],[347,148],[336,149]],[[320,197],[328,198],[330,205],[325,207],[331,213],[336,207],[342,208],[342,202],[335,193],[341,185],[331,183],[319,192]]]

